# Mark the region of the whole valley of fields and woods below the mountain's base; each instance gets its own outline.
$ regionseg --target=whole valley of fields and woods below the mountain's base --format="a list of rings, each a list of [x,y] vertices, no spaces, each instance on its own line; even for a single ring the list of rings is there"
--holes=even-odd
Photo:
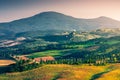
[[[33,35],[1,41],[0,80],[119,80],[119,30]]]

